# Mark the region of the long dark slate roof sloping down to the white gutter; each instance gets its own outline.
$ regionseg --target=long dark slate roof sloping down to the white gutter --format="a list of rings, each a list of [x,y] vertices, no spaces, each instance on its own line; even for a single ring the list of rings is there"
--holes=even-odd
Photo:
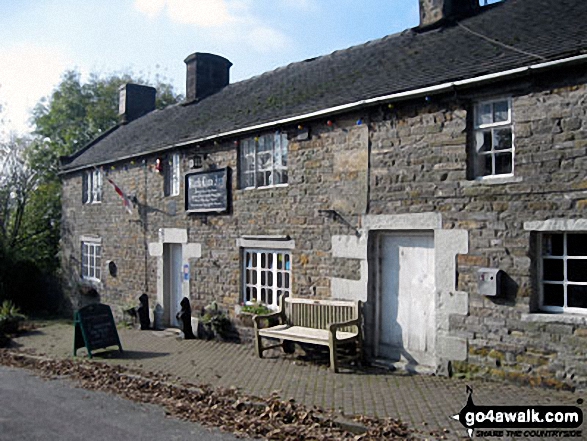
[[[586,19],[585,0],[505,0],[459,23],[408,29],[230,84],[194,104],[156,110],[99,137],[73,155],[63,171],[364,99],[585,54]]]

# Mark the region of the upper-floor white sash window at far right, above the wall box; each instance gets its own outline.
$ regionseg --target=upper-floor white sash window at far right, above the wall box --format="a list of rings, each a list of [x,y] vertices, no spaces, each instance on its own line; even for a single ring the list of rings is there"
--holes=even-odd
[[[513,175],[512,101],[503,98],[475,106],[475,178]]]

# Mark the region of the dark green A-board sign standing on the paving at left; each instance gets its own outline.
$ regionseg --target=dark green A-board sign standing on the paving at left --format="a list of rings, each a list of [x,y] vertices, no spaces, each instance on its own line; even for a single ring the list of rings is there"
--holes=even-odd
[[[73,355],[85,347],[92,358],[92,351],[108,346],[118,346],[122,352],[120,338],[110,306],[98,303],[81,308],[74,316],[75,337]]]

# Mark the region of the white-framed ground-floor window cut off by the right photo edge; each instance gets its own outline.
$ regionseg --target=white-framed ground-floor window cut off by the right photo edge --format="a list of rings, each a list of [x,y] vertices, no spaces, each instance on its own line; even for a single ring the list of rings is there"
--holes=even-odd
[[[541,309],[587,313],[587,233],[542,233]]]

